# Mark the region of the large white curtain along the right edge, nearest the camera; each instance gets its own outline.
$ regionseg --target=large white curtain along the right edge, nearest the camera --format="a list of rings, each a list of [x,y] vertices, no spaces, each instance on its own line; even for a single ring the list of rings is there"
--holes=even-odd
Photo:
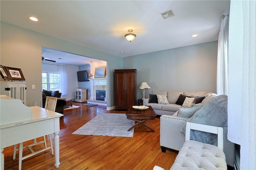
[[[228,140],[240,144],[240,169],[256,169],[256,2],[230,1]]]

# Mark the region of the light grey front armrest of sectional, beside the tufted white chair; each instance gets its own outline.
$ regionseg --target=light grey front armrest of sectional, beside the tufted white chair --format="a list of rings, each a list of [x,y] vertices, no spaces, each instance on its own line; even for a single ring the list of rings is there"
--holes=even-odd
[[[185,142],[182,126],[189,118],[162,115],[160,117],[160,146],[180,150]]]

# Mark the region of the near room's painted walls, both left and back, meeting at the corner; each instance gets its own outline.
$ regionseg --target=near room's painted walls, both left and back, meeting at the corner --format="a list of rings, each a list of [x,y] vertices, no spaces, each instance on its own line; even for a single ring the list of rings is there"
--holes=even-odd
[[[137,69],[138,99],[142,98],[138,89],[142,81],[148,82],[151,87],[146,96],[152,90],[216,92],[217,42],[121,58],[5,22],[0,24],[0,63],[22,69],[27,82],[28,106],[42,100],[42,47],[108,61],[108,107],[115,106],[114,69]],[[32,85],[36,85],[36,89],[32,89]]]

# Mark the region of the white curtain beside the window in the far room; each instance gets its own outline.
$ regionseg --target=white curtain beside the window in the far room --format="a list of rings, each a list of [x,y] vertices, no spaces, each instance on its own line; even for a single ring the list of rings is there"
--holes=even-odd
[[[60,92],[61,96],[67,95],[67,65],[60,64],[59,67],[60,72]]]

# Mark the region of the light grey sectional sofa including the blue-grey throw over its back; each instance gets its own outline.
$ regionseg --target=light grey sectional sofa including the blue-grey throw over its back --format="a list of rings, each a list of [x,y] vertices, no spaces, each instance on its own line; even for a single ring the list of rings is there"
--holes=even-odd
[[[162,152],[165,152],[166,148],[180,150],[185,142],[184,125],[186,125],[187,121],[204,125],[219,126],[223,127],[223,151],[226,155],[227,165],[234,167],[234,143],[227,139],[227,96],[222,95],[222,97],[220,97],[209,91],[153,91],[153,94],[167,95],[168,103],[170,103],[148,103],[150,99],[143,100],[143,105],[152,106],[157,115],[162,115],[160,117],[160,146]],[[195,107],[183,108],[182,105],[175,104],[177,103],[180,94],[190,97],[205,96],[205,98]],[[221,101],[216,101],[215,98],[221,98]],[[220,108],[222,109],[220,110]],[[184,110],[188,111],[184,112]],[[190,112],[192,112],[192,114]],[[185,114],[187,113],[190,115],[186,116]],[[197,140],[197,137],[200,137],[200,135],[195,136],[196,138],[192,140]],[[208,143],[212,142],[212,138],[209,138],[208,136],[203,137],[203,139],[208,140]],[[216,145],[216,141],[210,144]]]

